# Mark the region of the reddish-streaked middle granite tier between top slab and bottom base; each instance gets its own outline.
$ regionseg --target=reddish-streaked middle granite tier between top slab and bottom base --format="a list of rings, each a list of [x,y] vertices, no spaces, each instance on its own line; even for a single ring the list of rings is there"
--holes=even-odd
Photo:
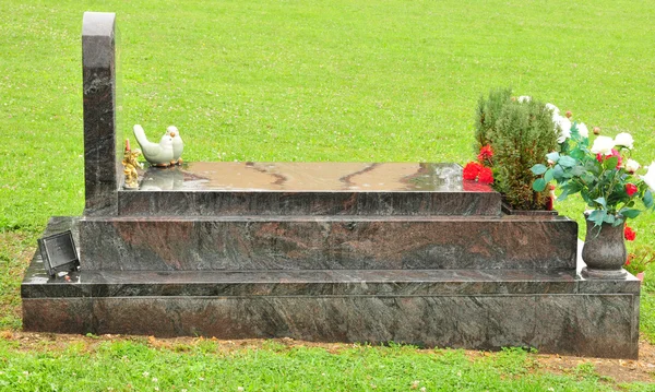
[[[574,269],[562,216],[93,216],[88,270]]]

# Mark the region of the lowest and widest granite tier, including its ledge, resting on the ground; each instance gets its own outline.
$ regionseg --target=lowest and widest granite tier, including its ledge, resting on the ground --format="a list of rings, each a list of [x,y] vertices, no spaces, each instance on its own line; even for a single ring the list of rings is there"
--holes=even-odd
[[[21,293],[26,331],[407,343],[636,358],[639,281],[575,270],[87,271]]]

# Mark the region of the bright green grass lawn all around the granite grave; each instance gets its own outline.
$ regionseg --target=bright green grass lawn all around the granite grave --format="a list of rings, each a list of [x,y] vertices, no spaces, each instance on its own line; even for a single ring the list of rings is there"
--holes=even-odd
[[[636,140],[634,157],[644,165],[655,159],[655,7],[647,1],[5,0],[0,2],[0,329],[20,328],[24,253],[34,249],[48,217],[82,213],[80,35],[88,10],[118,14],[121,128],[131,133],[132,124],[141,123],[155,138],[176,124],[187,161],[464,164],[474,157],[475,104],[498,86],[573,110],[605,134],[629,131]],[[557,207],[582,223],[579,202]],[[638,230],[631,249],[655,246],[655,214],[630,224]],[[655,266],[647,271],[647,278],[653,276]],[[645,287],[655,289],[652,282]],[[652,338],[654,308],[653,296],[644,294],[642,332]],[[88,354],[97,369],[94,365],[85,377],[120,368],[114,349]],[[0,367],[32,364],[36,372],[48,368],[49,356],[70,369],[84,358],[21,354],[8,344],[0,352],[13,353]],[[193,353],[166,352],[157,358],[181,368],[198,358],[204,364],[205,354]],[[361,359],[355,354],[330,360],[314,354],[299,351],[293,360],[314,358],[335,377],[321,384],[317,376],[308,385],[370,388],[347,383],[349,373],[340,369],[349,367],[373,378],[367,385],[392,382],[380,369],[358,368]],[[252,359],[257,353],[242,353],[230,360],[269,371],[271,361],[279,360],[275,355],[260,354],[258,361]],[[438,361],[426,359],[430,366]],[[461,366],[466,377],[487,371],[476,364]],[[9,380],[9,372],[0,371],[0,380]],[[70,377],[66,371],[61,375]],[[497,382],[490,390],[539,384],[498,371],[501,376],[489,376]],[[282,380],[266,375],[261,377],[269,381],[249,385]],[[293,375],[305,382],[301,367]],[[243,375],[231,377],[234,385],[226,388],[246,383]],[[407,389],[414,377],[398,378],[394,389]],[[552,382],[560,385],[556,390],[576,388]],[[590,382],[580,389],[597,390],[597,381]],[[106,387],[111,385],[88,388]],[[429,390],[438,389],[433,381]]]

